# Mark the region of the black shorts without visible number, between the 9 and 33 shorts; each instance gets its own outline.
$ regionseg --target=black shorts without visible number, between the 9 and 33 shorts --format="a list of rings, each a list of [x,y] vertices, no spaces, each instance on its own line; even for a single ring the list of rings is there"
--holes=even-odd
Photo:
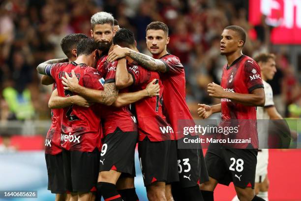
[[[145,186],[155,181],[167,184],[179,181],[176,141],[151,142],[146,137],[138,142],[138,153]]]

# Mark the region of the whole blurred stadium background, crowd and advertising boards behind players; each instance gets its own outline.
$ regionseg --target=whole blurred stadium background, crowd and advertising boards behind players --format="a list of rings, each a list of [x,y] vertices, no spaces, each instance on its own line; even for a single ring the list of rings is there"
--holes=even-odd
[[[299,119],[300,133],[301,0],[0,0],[0,190],[38,190],[35,201],[54,199],[47,191],[43,154],[51,87],[40,85],[35,68],[64,57],[60,40],[66,34],[90,36],[90,17],[99,11],[111,12],[120,27],[132,30],[146,54],[146,26],[168,25],[168,50],[185,67],[186,101],[195,119],[197,103],[219,101],[206,91],[208,83],[220,82],[226,63],[219,54],[220,33],[230,24],[243,27],[244,54],[276,55],[277,73],[270,82],[275,105],[284,117]],[[4,151],[4,144],[11,149]],[[270,150],[271,201],[301,201],[300,159],[300,150]],[[136,180],[143,201],[141,174]],[[233,195],[233,186],[215,192],[217,201]]]

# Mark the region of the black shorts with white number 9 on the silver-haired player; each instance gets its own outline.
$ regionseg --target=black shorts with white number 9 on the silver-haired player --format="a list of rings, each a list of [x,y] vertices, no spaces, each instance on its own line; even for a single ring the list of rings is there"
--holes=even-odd
[[[135,148],[137,132],[123,132],[119,128],[103,139],[100,152],[99,171],[114,169],[121,173],[136,176]]]

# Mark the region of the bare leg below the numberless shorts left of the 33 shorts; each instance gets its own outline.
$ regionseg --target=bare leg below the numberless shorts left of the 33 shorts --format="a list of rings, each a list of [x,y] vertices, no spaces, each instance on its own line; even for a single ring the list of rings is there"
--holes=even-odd
[[[166,201],[165,182],[156,181],[147,186],[149,201]]]

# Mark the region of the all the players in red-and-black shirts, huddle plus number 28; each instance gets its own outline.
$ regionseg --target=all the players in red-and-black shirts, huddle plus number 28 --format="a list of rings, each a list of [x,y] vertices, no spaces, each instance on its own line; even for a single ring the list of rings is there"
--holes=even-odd
[[[138,201],[137,142],[150,201],[213,201],[217,183],[230,182],[241,201],[263,200],[254,191],[256,125],[247,132],[255,140],[239,148],[212,143],[205,158],[201,144],[178,148],[184,137],[180,120],[193,126],[193,119],[185,102],[184,67],[167,52],[164,23],[147,26],[152,57],[138,51],[134,34],[119,28],[110,13],[95,13],[90,32],[91,37],[65,36],[61,48],[67,58],[37,67],[42,84],[53,84],[45,158],[48,189],[56,200]],[[264,106],[260,67],[241,52],[245,39],[238,26],[226,27],[221,34],[221,54],[228,64],[221,86],[210,83],[208,93],[225,101],[199,104],[201,118],[221,112],[222,120],[256,120],[256,106]],[[240,133],[246,133],[242,129]]]

